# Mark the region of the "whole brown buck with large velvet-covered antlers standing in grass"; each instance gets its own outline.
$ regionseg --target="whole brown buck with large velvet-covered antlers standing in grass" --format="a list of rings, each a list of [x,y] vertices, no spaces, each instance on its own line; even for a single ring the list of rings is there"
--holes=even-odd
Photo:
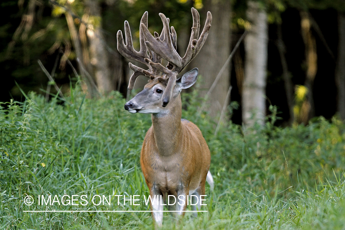
[[[177,215],[184,215],[188,195],[205,195],[206,180],[213,188],[213,179],[209,172],[210,151],[206,141],[194,123],[181,119],[180,92],[196,82],[198,69],[195,68],[182,77],[178,77],[178,74],[200,51],[212,21],[211,13],[207,12],[206,23],[199,36],[199,13],[194,8],[191,12],[193,27],[183,58],[176,51],[176,31],[174,27],[169,30],[169,19],[162,13],[159,16],[163,22],[163,30],[160,35],[155,32],[154,36],[147,29],[148,13],[145,12],[142,16],[139,52],[133,48],[127,21],[126,45],[121,30],[117,32],[119,52],[126,58],[148,67],[144,70],[129,63],[129,67],[134,71],[129,80],[129,90],[133,89],[138,76],[146,76],[149,80],[144,90],[125,104],[125,109],[130,113],[151,113],[152,126],[146,133],[140,154],[141,169],[151,198],[161,196],[165,202],[167,195],[173,195],[174,197],[168,196],[170,203],[174,203],[173,198],[184,199],[184,202],[167,206]],[[168,61],[166,67],[162,66],[162,59]],[[164,206],[160,202],[159,199],[150,200],[152,218],[158,226],[161,226],[163,219]]]

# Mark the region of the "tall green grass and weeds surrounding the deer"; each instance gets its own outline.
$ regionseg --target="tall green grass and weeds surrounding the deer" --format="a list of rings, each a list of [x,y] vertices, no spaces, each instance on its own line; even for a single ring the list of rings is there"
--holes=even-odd
[[[119,93],[88,99],[77,88],[58,105],[29,93],[0,110],[0,229],[152,229],[150,213],[32,213],[24,210],[149,210],[114,195],[148,195],[139,163],[150,116],[129,114]],[[345,126],[318,118],[308,126],[244,130],[228,123],[214,135],[197,93],[182,96],[183,118],[198,125],[211,151],[215,190],[207,206],[163,229],[344,229]],[[5,109],[6,108],[6,109]],[[272,108],[274,112],[274,108]],[[31,206],[27,195],[111,195],[111,205]],[[123,202],[123,200],[122,200]]]

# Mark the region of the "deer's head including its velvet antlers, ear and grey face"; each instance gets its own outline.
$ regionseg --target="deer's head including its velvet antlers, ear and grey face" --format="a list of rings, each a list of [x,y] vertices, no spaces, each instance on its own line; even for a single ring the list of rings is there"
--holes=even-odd
[[[203,31],[199,36],[200,18],[196,9],[191,9],[193,15],[193,27],[189,39],[187,51],[183,58],[176,51],[176,31],[174,27],[169,29],[169,19],[159,13],[163,22],[163,30],[154,36],[147,29],[147,11],[141,18],[139,37],[140,51],[133,48],[129,24],[125,21],[126,45],[121,30],[117,32],[117,49],[128,59],[140,62],[148,67],[147,70],[129,63],[134,73],[130,77],[128,89],[132,90],[138,76],[149,78],[149,82],[140,93],[125,104],[125,109],[131,113],[159,113],[161,107],[166,107],[171,98],[175,98],[182,89],[192,86],[197,79],[198,69],[195,68],[182,77],[178,74],[189,64],[200,51],[205,43],[208,31],[211,27],[212,16],[207,12],[207,19]],[[166,67],[161,61],[168,61]]]

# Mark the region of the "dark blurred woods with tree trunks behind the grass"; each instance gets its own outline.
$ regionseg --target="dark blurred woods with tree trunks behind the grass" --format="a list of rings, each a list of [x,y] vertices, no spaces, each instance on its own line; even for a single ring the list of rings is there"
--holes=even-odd
[[[132,25],[134,47],[138,50],[142,13],[149,13],[151,33],[161,31],[158,13],[165,13],[177,31],[177,51],[182,54],[189,41],[190,8],[195,7],[201,15],[201,28],[205,12],[209,10],[214,15],[203,51],[187,67],[199,68],[198,92],[202,97],[240,36],[248,30],[215,89],[208,94],[209,106],[205,109],[210,116],[218,120],[224,104],[230,104],[227,111],[232,113],[224,119],[236,124],[249,124],[248,112],[270,114],[270,105],[277,106],[278,116],[282,117],[276,125],[307,124],[317,116],[345,119],[345,8],[341,1],[230,4],[211,0],[3,0],[0,5],[6,16],[0,22],[0,101],[24,100],[18,86],[24,92],[41,93],[48,100],[58,90],[68,94],[70,82],[75,84],[78,78],[85,83],[90,97],[107,95],[112,90],[130,97],[127,85],[131,70],[116,47],[116,33],[124,31],[124,20]],[[260,39],[254,41],[255,50],[251,51],[248,38],[264,39],[263,43]],[[262,63],[252,63],[252,59]],[[53,80],[49,80],[38,60]],[[251,71],[255,73],[252,81]],[[145,77],[139,77],[135,89],[146,82]],[[231,93],[226,97],[230,86]],[[256,89],[257,94],[250,96]],[[255,100],[258,98],[263,98],[262,102]],[[239,106],[231,103],[234,101]],[[256,106],[260,103],[262,108]]]

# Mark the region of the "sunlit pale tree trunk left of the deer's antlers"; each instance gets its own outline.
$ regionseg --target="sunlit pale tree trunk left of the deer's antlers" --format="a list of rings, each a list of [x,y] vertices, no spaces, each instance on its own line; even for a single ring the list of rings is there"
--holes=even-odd
[[[101,20],[101,8],[98,0],[86,1],[90,15]],[[90,44],[90,62],[93,66],[98,90],[101,94],[115,90],[114,82],[110,77],[109,53],[106,49],[105,39],[101,32],[101,23],[98,23],[93,30],[88,30]]]

